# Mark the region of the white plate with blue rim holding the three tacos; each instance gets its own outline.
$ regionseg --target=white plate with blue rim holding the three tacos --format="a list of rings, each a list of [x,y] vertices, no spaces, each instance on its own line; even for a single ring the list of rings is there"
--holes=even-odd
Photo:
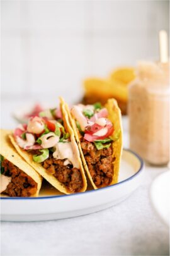
[[[98,212],[127,198],[140,185],[143,169],[144,163],[138,155],[123,150],[119,183],[73,195],[43,188],[38,198],[4,197],[1,198],[1,220],[45,221]]]

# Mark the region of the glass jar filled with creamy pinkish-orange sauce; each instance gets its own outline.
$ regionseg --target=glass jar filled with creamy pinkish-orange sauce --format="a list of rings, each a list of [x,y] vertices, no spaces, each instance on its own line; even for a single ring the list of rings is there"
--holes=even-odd
[[[130,149],[150,164],[169,162],[169,63],[140,62],[128,87]]]

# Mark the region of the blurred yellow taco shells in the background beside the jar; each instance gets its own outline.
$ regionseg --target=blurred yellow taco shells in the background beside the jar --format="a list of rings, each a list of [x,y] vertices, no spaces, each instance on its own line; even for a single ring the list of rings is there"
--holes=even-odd
[[[127,85],[135,78],[133,68],[119,68],[106,78],[88,78],[84,80],[84,104],[93,104],[106,101],[113,97],[118,102],[122,114],[127,113]]]

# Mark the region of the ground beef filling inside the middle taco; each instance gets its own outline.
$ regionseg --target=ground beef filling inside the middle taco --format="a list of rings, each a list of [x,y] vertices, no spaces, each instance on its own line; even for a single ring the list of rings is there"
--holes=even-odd
[[[47,172],[53,174],[57,180],[63,183],[71,193],[79,192],[82,188],[82,175],[79,169],[73,168],[72,164],[64,165],[66,159],[57,160],[52,154],[42,163]]]

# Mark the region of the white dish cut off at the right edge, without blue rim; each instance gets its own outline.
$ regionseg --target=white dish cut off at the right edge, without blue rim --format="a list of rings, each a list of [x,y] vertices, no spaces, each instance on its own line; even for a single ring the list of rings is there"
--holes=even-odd
[[[170,195],[170,171],[160,174],[152,182],[150,188],[150,199],[154,209],[156,210],[162,221],[169,226],[170,217],[170,205],[169,205],[169,195]]]

